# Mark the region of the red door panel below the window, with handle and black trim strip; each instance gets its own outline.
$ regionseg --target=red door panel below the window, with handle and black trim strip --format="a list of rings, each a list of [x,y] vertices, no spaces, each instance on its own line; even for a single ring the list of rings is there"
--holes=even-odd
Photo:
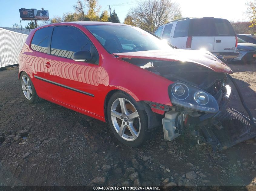
[[[45,56],[45,80],[52,99],[98,114],[98,65],[58,56]],[[49,66],[50,65],[50,66]]]

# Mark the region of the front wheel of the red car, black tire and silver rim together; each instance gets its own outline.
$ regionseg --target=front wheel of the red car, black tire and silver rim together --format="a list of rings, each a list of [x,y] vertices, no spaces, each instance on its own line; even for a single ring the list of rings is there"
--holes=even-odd
[[[139,147],[151,137],[147,113],[138,108],[138,103],[122,92],[113,94],[108,102],[110,127],[116,138],[130,147]]]

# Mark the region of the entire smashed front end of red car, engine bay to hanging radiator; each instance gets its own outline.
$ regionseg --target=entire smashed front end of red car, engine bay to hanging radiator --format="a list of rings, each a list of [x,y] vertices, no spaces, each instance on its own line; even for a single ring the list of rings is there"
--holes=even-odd
[[[214,150],[223,150],[256,137],[256,123],[238,85],[228,74],[232,73],[231,69],[228,71],[228,66],[223,63],[225,70],[221,71],[221,61],[219,71],[216,71],[188,60],[122,59],[174,82],[168,88],[173,106],[158,108],[165,113],[162,124],[166,140],[171,141],[188,129],[198,138],[199,145],[208,144]],[[250,119],[233,108],[226,108],[231,99],[231,82]],[[156,106],[148,104],[154,111]]]

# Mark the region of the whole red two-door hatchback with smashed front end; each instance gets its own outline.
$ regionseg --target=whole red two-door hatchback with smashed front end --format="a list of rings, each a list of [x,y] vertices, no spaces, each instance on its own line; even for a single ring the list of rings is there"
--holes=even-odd
[[[42,98],[108,122],[132,147],[159,126],[168,141],[188,129],[198,144],[219,150],[255,137],[252,119],[225,108],[229,73],[209,52],[176,49],[138,27],[105,22],[38,27],[19,56],[29,103]]]

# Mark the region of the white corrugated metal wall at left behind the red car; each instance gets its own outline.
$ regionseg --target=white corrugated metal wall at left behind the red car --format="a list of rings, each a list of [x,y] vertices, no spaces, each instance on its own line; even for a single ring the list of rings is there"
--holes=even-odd
[[[18,64],[18,56],[28,37],[27,34],[0,27],[0,68]],[[24,30],[24,29],[23,29]]]

